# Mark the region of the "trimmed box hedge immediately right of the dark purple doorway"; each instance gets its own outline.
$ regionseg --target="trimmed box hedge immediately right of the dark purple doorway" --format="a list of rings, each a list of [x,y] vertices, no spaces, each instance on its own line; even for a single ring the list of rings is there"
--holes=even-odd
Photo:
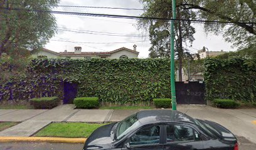
[[[98,108],[99,98],[88,97],[88,98],[75,98],[74,104],[77,108]]]

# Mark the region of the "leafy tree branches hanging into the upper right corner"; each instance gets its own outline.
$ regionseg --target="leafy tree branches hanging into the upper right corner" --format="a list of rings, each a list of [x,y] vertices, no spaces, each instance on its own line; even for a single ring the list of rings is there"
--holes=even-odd
[[[233,24],[205,23],[205,31],[223,35],[234,47],[256,47],[255,24],[242,22],[256,21],[255,0],[188,0],[177,2],[177,7],[197,12],[197,19],[208,21],[228,21]]]

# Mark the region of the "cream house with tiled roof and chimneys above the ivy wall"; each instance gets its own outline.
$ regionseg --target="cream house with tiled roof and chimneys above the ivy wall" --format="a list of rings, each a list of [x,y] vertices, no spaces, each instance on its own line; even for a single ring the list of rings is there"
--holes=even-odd
[[[137,46],[134,44],[133,49],[128,49],[126,47],[121,47],[109,52],[82,52],[82,47],[75,47],[73,52],[57,53],[49,49],[41,49],[33,54],[33,56],[38,58],[70,58],[70,59],[90,59],[90,58],[108,58],[108,59],[119,59],[119,58],[137,58],[139,52],[137,51]]]

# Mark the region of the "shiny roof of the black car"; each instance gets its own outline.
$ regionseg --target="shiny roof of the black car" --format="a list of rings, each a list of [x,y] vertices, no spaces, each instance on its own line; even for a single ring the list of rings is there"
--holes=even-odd
[[[168,122],[187,122],[195,124],[195,120],[190,116],[171,109],[139,111],[137,118],[142,125]]]

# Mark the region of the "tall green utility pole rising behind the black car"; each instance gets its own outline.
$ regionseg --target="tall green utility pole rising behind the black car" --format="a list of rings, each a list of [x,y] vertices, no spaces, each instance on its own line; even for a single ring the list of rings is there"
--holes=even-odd
[[[173,1],[173,19],[176,19],[176,0]],[[176,91],[175,91],[175,66],[174,66],[174,20],[171,21],[171,104],[173,110],[176,108]]]

